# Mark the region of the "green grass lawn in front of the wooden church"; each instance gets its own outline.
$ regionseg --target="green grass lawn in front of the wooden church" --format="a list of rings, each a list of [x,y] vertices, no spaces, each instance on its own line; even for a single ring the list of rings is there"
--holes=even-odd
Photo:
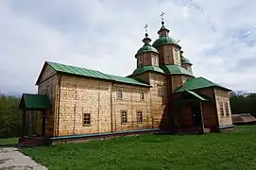
[[[142,135],[23,148],[49,169],[234,170],[256,167],[256,126],[206,135]]]

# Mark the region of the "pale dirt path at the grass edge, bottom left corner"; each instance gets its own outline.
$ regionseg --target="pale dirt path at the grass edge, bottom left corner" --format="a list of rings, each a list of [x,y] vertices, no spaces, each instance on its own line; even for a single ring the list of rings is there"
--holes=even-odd
[[[0,170],[47,170],[15,147],[0,147]]]

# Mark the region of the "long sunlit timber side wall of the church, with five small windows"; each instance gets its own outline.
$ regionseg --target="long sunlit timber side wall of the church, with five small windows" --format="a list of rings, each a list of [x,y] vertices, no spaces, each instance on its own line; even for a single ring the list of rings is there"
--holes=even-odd
[[[117,98],[117,90],[122,90],[122,99]],[[143,101],[140,99],[142,92],[145,93]],[[149,101],[149,88],[115,83],[111,85],[111,82],[99,79],[62,76],[55,136],[152,127]],[[121,110],[127,110],[126,124],[121,124]],[[143,123],[137,123],[138,110],[143,113]],[[90,113],[90,125],[83,125],[84,113]]]

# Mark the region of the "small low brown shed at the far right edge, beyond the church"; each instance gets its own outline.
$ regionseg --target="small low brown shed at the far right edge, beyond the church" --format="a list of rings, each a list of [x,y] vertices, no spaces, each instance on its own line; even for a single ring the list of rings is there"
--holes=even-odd
[[[256,124],[256,118],[250,113],[232,114],[234,125],[251,125]]]

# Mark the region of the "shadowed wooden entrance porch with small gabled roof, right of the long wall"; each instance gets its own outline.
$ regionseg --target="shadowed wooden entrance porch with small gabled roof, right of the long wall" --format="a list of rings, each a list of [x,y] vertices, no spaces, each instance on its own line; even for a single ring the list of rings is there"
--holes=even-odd
[[[203,134],[217,127],[213,99],[203,93],[185,91],[175,101],[175,127],[178,133]]]

